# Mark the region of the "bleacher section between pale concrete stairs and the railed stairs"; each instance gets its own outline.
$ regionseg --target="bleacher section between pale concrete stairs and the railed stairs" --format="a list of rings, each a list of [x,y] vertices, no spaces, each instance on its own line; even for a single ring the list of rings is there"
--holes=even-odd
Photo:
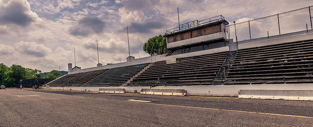
[[[144,72],[133,78],[130,86],[157,85],[211,85],[227,52],[179,58],[177,63],[152,63]]]

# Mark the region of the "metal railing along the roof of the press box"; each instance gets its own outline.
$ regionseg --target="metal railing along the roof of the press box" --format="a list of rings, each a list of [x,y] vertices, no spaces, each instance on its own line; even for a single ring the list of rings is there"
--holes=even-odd
[[[213,22],[217,22],[217,21],[221,21],[224,20],[224,17],[222,15],[220,16],[215,16],[215,17],[211,17],[211,18],[206,18],[203,20],[194,20],[194,21],[190,21],[184,24],[180,24],[178,27],[167,30],[166,34],[173,34],[179,31],[184,31],[184,30],[188,30],[191,28],[195,28],[198,26],[202,26],[205,24],[209,24],[209,23],[213,23]]]

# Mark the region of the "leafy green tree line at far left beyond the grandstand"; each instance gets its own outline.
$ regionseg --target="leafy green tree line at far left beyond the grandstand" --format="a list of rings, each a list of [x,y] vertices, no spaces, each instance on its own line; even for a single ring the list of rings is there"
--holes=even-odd
[[[58,78],[61,75],[59,71],[52,70],[43,76],[40,70],[33,70],[30,68],[24,68],[21,65],[13,64],[11,67],[7,67],[5,64],[0,63],[0,85],[7,87],[20,84],[23,79],[33,78]]]

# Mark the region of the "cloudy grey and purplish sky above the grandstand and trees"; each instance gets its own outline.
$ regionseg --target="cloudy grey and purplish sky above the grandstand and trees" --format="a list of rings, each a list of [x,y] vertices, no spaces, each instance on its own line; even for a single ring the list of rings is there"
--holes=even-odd
[[[145,57],[142,45],[180,22],[223,15],[241,21],[312,5],[312,0],[0,0],[0,63],[67,71]]]

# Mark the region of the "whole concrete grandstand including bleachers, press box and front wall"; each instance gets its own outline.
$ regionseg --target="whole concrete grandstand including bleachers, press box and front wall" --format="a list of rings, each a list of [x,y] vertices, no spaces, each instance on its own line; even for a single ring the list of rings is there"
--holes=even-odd
[[[223,16],[181,24],[164,35],[167,54],[86,69],[69,63],[68,74],[44,88],[184,89],[188,95],[206,96],[238,96],[243,89],[313,88],[313,30],[234,41],[228,24]]]

